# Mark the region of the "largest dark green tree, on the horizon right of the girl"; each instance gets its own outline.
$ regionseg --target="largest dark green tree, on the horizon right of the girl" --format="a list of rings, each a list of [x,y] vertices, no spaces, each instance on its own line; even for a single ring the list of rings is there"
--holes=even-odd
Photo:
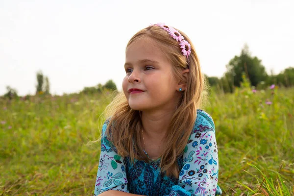
[[[256,56],[252,57],[248,46],[245,45],[240,56],[235,56],[226,66],[227,75],[233,77],[234,86],[240,87],[242,74],[245,73],[251,85],[256,86],[259,82],[265,81],[268,77],[261,60]]]

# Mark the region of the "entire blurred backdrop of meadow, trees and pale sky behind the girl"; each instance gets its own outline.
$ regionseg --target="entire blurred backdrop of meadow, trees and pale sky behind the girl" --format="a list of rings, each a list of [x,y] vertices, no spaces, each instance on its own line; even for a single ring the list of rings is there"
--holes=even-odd
[[[293,195],[293,0],[1,0],[0,194],[93,195],[128,40],[164,22],[210,85],[225,195]],[[271,181],[272,180],[272,181]],[[279,187],[281,187],[279,189]]]

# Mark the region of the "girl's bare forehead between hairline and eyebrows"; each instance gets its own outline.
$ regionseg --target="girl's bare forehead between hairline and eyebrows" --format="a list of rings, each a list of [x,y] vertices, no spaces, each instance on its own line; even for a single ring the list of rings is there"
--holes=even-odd
[[[126,62],[136,62],[142,59],[166,61],[166,55],[159,48],[158,43],[151,39],[139,39],[131,43],[125,51]]]

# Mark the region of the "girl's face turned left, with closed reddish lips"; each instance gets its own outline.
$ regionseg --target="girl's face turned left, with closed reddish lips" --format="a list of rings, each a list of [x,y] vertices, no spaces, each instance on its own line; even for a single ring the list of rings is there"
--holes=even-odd
[[[173,110],[180,98],[172,65],[151,39],[132,43],[125,54],[123,92],[134,110]],[[141,92],[130,92],[140,89]]]

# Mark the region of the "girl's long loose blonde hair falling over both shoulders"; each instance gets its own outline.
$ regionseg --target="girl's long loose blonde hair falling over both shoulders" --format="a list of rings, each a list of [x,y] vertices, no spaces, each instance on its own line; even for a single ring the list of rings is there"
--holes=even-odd
[[[132,43],[142,38],[154,40],[170,60],[173,76],[187,85],[186,90],[181,92],[182,97],[167,129],[165,141],[169,142],[165,144],[160,160],[161,172],[174,177],[179,176],[177,158],[183,154],[189,140],[196,121],[196,110],[200,107],[204,98],[203,91],[206,90],[195,48],[191,40],[183,32],[179,32],[191,44],[189,60],[182,54],[179,43],[159,26],[148,26],[140,30],[126,46],[127,49]],[[188,78],[185,79],[182,70],[187,68],[189,73]],[[120,92],[106,107],[104,114],[105,118],[109,118],[106,129],[107,138],[116,147],[118,154],[123,157],[129,156],[132,162],[135,159],[148,162],[147,155],[140,147],[142,144],[140,133],[143,128],[140,111],[130,108],[123,92]]]

